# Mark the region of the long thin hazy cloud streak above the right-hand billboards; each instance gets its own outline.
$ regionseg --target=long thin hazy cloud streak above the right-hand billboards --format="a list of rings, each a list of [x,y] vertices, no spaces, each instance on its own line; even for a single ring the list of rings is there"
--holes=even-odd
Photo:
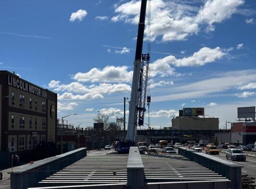
[[[176,83],[175,86],[169,89],[171,94],[168,95],[166,95],[168,91],[165,91],[165,93],[158,91],[154,96],[154,101],[232,96],[234,94],[225,93],[225,91],[238,88],[254,81],[256,81],[256,70],[215,73],[214,77],[192,82],[187,85],[179,85],[179,83]]]

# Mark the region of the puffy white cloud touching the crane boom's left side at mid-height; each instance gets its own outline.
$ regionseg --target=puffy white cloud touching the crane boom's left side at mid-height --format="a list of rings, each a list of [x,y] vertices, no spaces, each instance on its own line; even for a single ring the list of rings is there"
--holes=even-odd
[[[102,70],[92,68],[87,73],[78,72],[73,79],[79,82],[131,82],[132,73],[128,72],[128,66],[106,66]]]

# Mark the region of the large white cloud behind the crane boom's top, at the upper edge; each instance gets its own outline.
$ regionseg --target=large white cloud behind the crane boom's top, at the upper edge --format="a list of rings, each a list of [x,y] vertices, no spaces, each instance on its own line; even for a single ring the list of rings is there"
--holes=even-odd
[[[229,19],[244,0],[205,0],[201,8],[184,1],[151,0],[151,39],[162,41],[185,40],[197,35],[203,26],[213,31],[215,23]],[[141,1],[130,0],[115,7],[113,22],[138,24]],[[147,25],[145,35],[147,36]]]

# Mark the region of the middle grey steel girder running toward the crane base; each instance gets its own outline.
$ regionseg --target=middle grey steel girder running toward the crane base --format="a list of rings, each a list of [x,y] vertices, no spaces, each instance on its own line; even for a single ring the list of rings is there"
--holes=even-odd
[[[138,147],[130,147],[127,163],[127,185],[129,189],[144,187],[144,165]]]

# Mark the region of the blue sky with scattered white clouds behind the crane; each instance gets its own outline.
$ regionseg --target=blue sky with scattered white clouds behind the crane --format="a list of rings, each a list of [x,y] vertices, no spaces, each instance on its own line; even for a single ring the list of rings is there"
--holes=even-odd
[[[92,126],[98,111],[115,120],[130,97],[139,12],[138,0],[0,1],[0,69],[57,92],[58,117],[77,113],[74,125]],[[255,0],[152,0],[147,27],[151,126],[205,107],[223,127],[256,105]]]

